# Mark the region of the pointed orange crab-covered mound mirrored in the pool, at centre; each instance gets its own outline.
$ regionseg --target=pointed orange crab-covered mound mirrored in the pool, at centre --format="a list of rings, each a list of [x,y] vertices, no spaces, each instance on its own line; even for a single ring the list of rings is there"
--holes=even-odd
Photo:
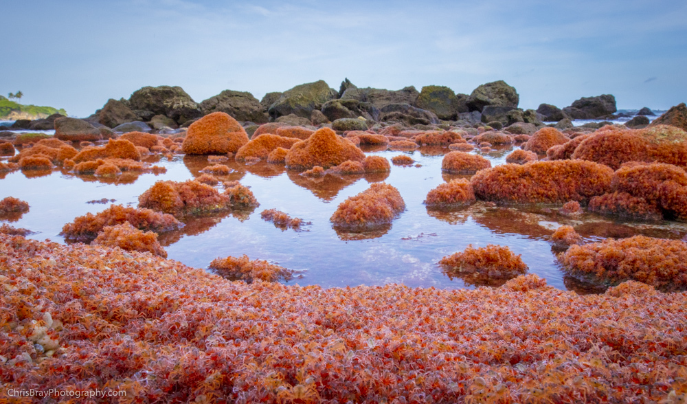
[[[308,170],[315,166],[330,168],[346,160],[363,161],[365,154],[330,128],[315,131],[308,139],[294,144],[286,154],[286,167]]]

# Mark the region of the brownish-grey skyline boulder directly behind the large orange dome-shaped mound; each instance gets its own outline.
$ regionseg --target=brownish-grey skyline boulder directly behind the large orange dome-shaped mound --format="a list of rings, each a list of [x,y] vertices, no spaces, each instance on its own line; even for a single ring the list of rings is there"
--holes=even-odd
[[[256,124],[267,122],[264,108],[253,94],[247,91],[225,90],[201,102],[203,115],[225,112],[238,121],[251,121]]]

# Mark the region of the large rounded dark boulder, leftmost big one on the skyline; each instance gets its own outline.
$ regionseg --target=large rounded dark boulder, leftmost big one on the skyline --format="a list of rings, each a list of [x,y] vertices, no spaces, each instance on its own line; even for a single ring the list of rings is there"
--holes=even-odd
[[[193,98],[178,86],[143,87],[131,94],[129,102],[133,110],[167,115],[179,124],[203,115]]]

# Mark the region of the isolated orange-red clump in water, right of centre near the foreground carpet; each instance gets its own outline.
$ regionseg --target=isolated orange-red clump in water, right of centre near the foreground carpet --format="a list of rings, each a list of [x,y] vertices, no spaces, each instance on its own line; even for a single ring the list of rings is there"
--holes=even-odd
[[[490,283],[491,280],[515,278],[528,270],[519,255],[502,245],[487,245],[446,256],[439,261],[449,276],[457,276],[471,283]]]

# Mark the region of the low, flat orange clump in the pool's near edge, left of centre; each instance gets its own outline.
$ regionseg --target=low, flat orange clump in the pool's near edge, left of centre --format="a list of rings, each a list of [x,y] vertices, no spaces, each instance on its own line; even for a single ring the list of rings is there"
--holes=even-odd
[[[245,280],[247,283],[252,283],[254,280],[277,282],[290,280],[293,277],[293,271],[289,269],[270,264],[265,260],[251,261],[246,255],[239,258],[216,258],[210,262],[209,268],[217,271],[223,278]]]

